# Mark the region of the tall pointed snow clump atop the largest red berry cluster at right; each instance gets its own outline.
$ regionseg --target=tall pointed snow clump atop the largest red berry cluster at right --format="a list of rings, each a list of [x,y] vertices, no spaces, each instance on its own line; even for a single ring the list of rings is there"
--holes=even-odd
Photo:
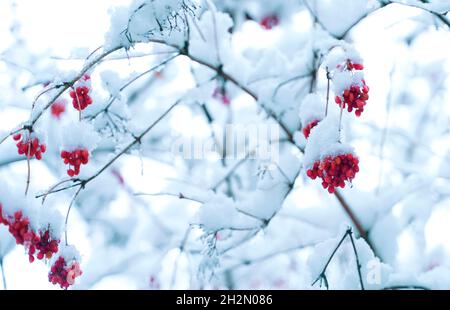
[[[312,167],[314,162],[328,156],[354,153],[353,147],[340,142],[339,117],[329,114],[311,130],[305,148],[304,167]]]

